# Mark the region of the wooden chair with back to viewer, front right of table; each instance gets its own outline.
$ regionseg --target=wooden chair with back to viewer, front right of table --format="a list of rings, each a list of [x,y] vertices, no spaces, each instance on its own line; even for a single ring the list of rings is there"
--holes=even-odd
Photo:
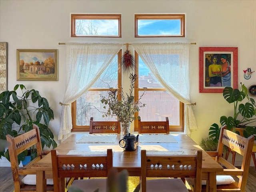
[[[149,155],[141,150],[141,192],[188,192],[180,179],[186,177],[194,178],[194,191],[201,192],[202,150],[195,155]]]

